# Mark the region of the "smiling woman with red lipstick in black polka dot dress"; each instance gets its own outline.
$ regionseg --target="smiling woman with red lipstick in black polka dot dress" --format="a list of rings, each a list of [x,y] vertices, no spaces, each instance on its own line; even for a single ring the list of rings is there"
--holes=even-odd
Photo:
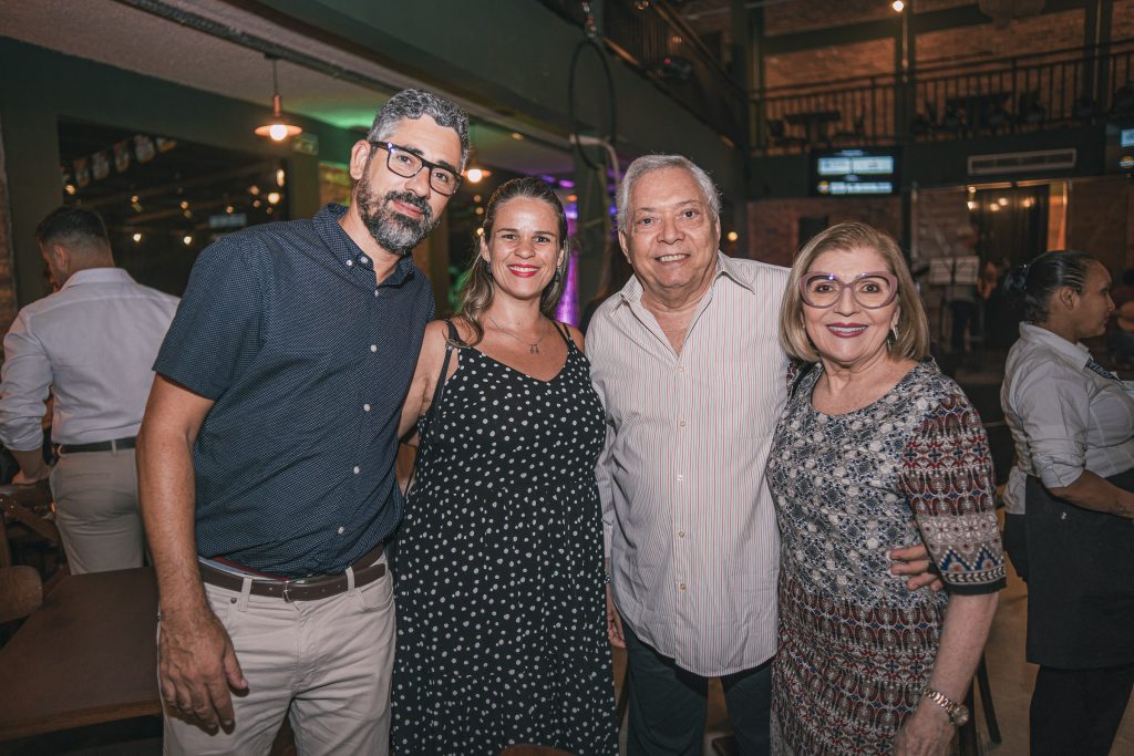
[[[395,564],[399,756],[518,742],[618,753],[594,481],[602,407],[582,334],[550,318],[566,239],[545,184],[502,185],[460,313],[425,333],[401,428],[416,425],[420,457]]]

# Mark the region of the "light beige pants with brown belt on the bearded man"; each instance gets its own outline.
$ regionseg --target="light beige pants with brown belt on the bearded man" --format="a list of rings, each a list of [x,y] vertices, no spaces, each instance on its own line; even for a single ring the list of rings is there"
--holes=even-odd
[[[248,694],[232,696],[230,734],[209,734],[167,711],[166,754],[268,754],[289,711],[303,756],[389,753],[395,639],[389,571],[320,601],[288,603],[211,585],[205,593],[232,638]]]

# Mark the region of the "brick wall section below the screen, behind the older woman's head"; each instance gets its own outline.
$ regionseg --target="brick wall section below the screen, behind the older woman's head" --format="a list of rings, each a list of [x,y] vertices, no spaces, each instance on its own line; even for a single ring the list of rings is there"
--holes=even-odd
[[[790,265],[801,243],[799,219],[827,218],[830,226],[862,221],[902,238],[902,199],[802,198],[758,199],[748,203],[751,257],[775,265]]]

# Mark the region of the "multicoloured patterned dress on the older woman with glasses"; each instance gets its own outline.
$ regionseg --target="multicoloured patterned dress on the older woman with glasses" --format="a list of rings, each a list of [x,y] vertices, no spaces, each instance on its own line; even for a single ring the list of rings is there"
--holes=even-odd
[[[815,366],[768,464],[779,517],[779,753],[887,754],[933,671],[950,593],[1004,586],[988,441],[959,387],[925,362],[878,401],[829,416]],[[947,592],[909,591],[887,550],[924,541]]]

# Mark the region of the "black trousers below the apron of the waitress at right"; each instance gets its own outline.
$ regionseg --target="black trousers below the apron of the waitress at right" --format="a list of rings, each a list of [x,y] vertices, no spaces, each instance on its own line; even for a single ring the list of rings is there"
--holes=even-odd
[[[1134,665],[1041,666],[1032,694],[1032,756],[1107,756],[1134,687]]]

